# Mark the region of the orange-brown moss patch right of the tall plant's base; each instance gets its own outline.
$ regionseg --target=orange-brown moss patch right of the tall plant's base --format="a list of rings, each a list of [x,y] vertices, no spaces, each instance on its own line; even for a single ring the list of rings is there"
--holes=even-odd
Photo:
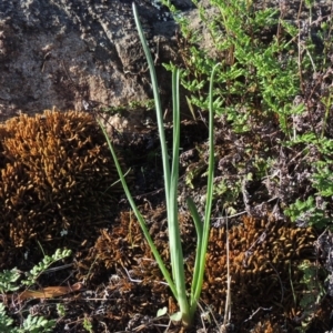
[[[253,311],[259,306],[281,304],[289,312],[292,306],[290,281],[300,281],[297,265],[304,259],[313,259],[311,228],[244,218],[243,223],[231,228],[230,273],[233,306]],[[224,312],[226,292],[226,232],[212,229],[206,258],[206,282],[202,297]],[[294,286],[295,287],[295,286]],[[243,319],[244,320],[244,319]]]

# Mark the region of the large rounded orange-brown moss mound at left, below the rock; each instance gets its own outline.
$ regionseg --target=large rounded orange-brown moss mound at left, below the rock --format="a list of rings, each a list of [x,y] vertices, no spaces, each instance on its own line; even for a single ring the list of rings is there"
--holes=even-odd
[[[120,185],[105,139],[83,112],[46,111],[0,127],[0,266],[32,241],[79,244],[110,219]],[[110,188],[111,186],[111,188]]]

